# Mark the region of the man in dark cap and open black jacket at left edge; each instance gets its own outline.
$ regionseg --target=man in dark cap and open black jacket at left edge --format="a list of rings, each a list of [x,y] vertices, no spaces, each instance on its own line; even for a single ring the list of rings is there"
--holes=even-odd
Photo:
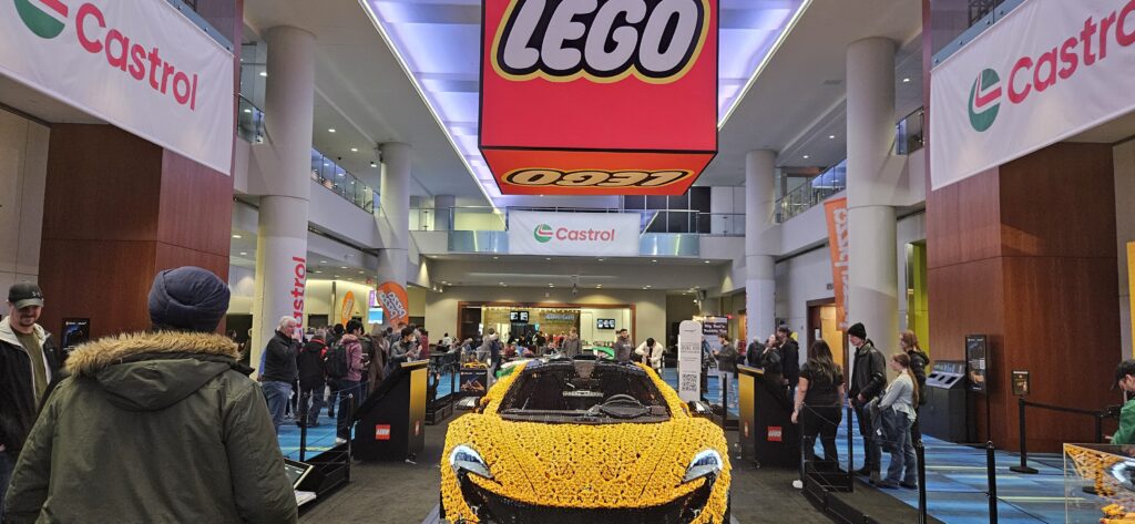
[[[39,286],[20,282],[8,289],[8,316],[0,320],[0,519],[16,458],[64,360],[51,333],[36,323],[41,311]]]

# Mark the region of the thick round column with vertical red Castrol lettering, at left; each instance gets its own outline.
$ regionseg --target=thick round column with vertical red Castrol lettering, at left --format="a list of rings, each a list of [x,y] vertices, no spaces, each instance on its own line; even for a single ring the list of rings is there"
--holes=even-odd
[[[264,135],[276,160],[260,198],[257,234],[257,294],[252,304],[250,363],[281,316],[303,320],[306,288],[308,198],[316,88],[316,36],[295,27],[268,29]]]

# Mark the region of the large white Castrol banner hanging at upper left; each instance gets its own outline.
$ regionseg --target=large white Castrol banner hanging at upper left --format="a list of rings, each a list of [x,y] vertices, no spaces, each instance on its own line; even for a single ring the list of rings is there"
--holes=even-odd
[[[226,175],[233,68],[166,0],[0,1],[0,75]]]

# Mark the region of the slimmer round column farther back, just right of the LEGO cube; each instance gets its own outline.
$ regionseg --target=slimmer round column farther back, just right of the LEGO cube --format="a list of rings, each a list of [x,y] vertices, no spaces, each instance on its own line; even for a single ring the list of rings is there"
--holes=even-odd
[[[775,209],[775,151],[750,151],[745,157],[745,329],[749,341],[776,329],[776,246],[767,235]]]

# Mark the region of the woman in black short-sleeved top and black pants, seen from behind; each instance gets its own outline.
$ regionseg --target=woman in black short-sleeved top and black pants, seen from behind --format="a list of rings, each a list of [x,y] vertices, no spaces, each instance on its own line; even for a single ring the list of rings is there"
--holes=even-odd
[[[796,389],[792,423],[800,424],[804,459],[816,460],[816,436],[824,447],[824,462],[839,465],[835,431],[843,419],[843,371],[835,365],[827,343],[816,340],[808,348],[808,361],[800,367],[800,382]]]

